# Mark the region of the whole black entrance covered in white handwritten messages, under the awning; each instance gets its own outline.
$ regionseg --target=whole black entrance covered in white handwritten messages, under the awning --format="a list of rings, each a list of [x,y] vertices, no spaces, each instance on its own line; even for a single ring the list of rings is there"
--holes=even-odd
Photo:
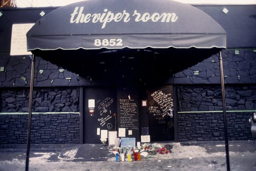
[[[84,143],[101,143],[97,130],[118,128],[126,128],[125,137],[136,141],[145,130],[151,142],[174,141],[173,98],[172,86],[84,88]]]

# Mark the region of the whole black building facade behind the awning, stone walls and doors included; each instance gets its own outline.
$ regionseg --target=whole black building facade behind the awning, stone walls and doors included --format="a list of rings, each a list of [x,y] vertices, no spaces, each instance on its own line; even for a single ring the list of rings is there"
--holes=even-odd
[[[228,138],[252,140],[248,120],[256,110],[256,6],[195,7],[227,32],[222,58]],[[26,143],[27,136],[31,60],[29,55],[10,56],[11,26],[35,23],[41,11],[52,10],[0,10],[1,144]],[[196,61],[198,54],[186,52],[190,60],[171,65],[171,57],[179,55],[184,54],[174,50],[166,59],[147,49],[112,50],[92,60],[93,65],[85,59],[84,70],[72,62],[62,68],[36,57],[31,142],[100,143],[98,128],[126,128],[126,137],[136,141],[146,134],[154,142],[224,140],[218,54]]]

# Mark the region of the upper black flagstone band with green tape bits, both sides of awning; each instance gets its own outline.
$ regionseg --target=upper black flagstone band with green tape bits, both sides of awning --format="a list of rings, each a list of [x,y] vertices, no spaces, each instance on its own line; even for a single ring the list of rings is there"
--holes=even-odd
[[[226,83],[256,83],[256,53],[253,49],[226,49],[222,52],[224,79]],[[4,67],[4,71],[0,71],[0,86],[29,86],[30,59],[28,55],[10,57],[10,54],[2,53],[0,54],[0,67]],[[127,72],[128,73],[124,74],[132,74],[130,71]],[[122,74],[120,77],[122,77]],[[85,86],[108,84],[106,83],[106,80],[102,81],[102,75],[98,75],[98,78],[92,78],[91,82],[90,77],[82,78],[75,73],[71,73],[70,71],[44,61],[40,57],[36,58],[34,78],[35,86]],[[120,78],[111,79],[113,79],[113,81],[110,82],[113,84]],[[170,75],[170,77],[164,81],[164,84],[166,85],[214,83],[220,83],[218,55],[212,55],[212,57],[209,57],[184,71]]]

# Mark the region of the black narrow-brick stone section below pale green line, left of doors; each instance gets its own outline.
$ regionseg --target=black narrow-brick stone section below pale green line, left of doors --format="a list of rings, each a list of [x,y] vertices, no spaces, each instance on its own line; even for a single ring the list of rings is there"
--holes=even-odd
[[[0,115],[0,144],[27,141],[28,115]],[[79,143],[79,114],[32,114],[31,143]]]

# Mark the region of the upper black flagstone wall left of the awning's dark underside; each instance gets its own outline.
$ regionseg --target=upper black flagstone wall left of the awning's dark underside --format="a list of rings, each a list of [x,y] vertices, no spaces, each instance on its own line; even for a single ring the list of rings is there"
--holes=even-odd
[[[10,56],[0,54],[0,87],[24,87],[30,85],[31,61],[29,55]],[[90,79],[62,69],[52,63],[36,57],[34,86],[79,86],[90,85]]]

